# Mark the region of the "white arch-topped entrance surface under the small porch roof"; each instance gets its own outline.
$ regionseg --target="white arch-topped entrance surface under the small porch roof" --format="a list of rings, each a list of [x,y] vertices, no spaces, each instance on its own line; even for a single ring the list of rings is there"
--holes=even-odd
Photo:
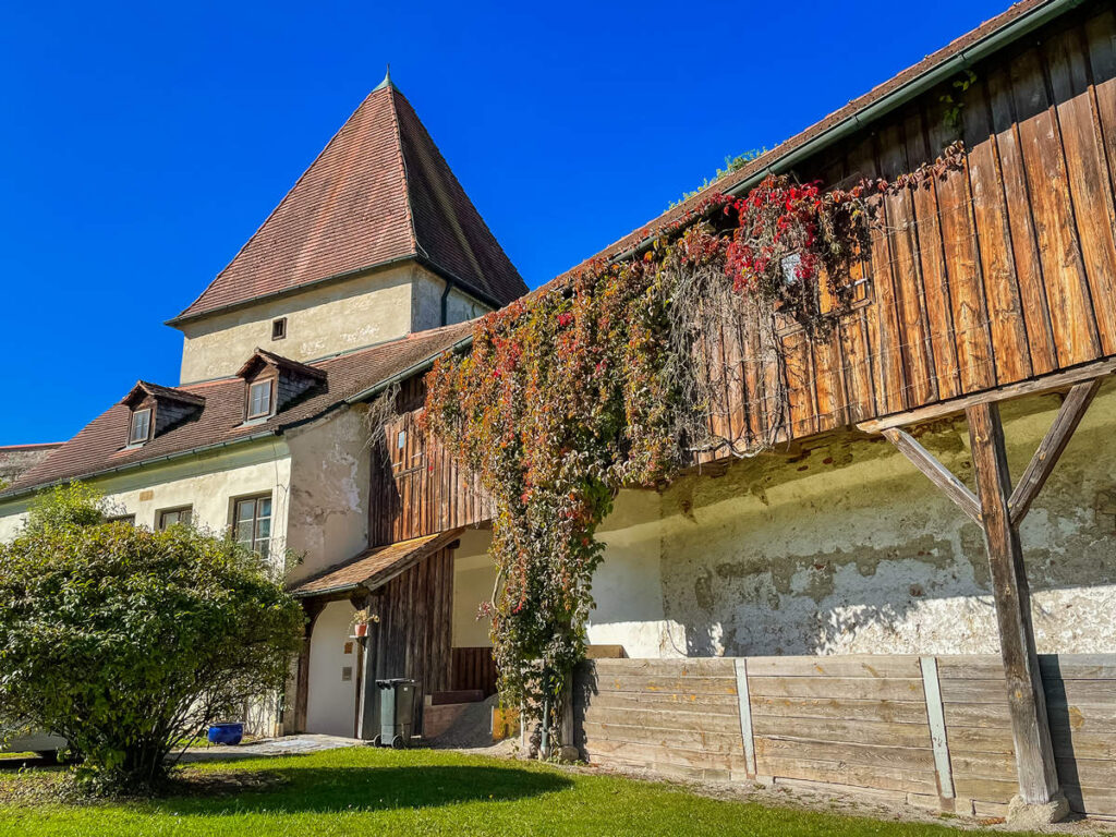
[[[310,634],[310,689],[306,731],[354,737],[356,719],[356,643],[350,641],[353,605],[331,602],[318,615]],[[348,648],[348,653],[346,652]],[[349,670],[350,680],[343,677]]]

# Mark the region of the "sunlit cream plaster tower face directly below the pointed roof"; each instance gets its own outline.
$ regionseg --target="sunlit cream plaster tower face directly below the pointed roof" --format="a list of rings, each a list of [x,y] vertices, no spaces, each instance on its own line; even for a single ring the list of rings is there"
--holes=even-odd
[[[425,273],[397,264],[186,323],[182,383],[233,375],[257,346],[312,360],[402,337],[412,330],[412,283]],[[278,317],[287,317],[287,337],[272,340]]]

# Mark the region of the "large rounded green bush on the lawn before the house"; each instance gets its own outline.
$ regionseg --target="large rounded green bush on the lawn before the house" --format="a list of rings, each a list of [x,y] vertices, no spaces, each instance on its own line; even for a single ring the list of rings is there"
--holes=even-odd
[[[92,789],[150,791],[176,742],[282,686],[301,608],[231,540],[55,506],[76,513],[0,546],[0,716],[66,737]]]

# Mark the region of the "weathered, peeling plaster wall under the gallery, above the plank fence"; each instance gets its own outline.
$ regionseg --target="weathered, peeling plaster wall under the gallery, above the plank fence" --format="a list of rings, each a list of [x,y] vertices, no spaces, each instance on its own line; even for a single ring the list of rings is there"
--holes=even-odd
[[[1003,408],[1017,477],[1056,406]],[[1114,417],[1109,385],[1021,528],[1042,653],[1116,651]],[[963,422],[922,441],[972,485]],[[687,478],[662,518],[664,613],[690,655],[998,651],[980,530],[884,441]]]

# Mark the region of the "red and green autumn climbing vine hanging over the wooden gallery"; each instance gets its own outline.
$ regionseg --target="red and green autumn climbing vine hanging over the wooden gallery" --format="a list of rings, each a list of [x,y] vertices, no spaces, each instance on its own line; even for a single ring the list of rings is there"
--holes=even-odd
[[[873,196],[924,187],[961,154],[848,190],[770,176],[740,198],[708,195],[641,256],[593,262],[485,316],[469,354],[439,359],[427,430],[496,507],[499,580],[483,609],[504,700],[557,694],[584,656],[595,535],[618,489],[668,478],[706,441],[695,346],[718,318],[747,308],[769,328],[778,310],[825,329],[822,285],[839,312],[870,247]]]

